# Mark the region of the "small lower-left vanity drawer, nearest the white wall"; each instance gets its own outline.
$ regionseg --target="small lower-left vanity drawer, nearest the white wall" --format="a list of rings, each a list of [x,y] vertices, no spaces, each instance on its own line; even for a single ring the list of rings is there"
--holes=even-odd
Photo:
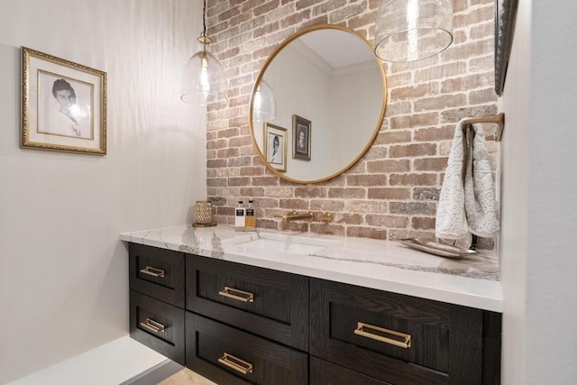
[[[185,364],[184,309],[130,291],[130,336]]]

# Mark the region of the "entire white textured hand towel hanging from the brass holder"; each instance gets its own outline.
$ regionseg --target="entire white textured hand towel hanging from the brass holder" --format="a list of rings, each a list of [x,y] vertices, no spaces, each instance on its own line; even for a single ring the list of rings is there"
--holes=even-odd
[[[438,238],[460,239],[469,232],[490,237],[499,232],[499,212],[485,135],[481,126],[473,125],[473,132],[472,154],[465,157],[468,149],[462,122],[454,129],[453,148],[436,209]]]

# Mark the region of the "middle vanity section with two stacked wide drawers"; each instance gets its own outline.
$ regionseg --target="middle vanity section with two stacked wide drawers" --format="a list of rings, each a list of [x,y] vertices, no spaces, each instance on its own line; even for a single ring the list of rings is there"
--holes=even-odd
[[[216,383],[308,383],[308,278],[188,255],[187,366]]]

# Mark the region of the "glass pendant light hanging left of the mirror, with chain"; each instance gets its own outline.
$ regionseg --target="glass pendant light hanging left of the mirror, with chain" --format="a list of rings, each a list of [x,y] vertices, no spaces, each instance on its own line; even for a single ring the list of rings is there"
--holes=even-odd
[[[202,43],[203,49],[188,60],[182,74],[180,95],[182,101],[196,105],[226,100],[228,93],[223,66],[206,50],[206,46],[211,43],[206,35],[206,0],[202,20],[203,32],[197,40]]]

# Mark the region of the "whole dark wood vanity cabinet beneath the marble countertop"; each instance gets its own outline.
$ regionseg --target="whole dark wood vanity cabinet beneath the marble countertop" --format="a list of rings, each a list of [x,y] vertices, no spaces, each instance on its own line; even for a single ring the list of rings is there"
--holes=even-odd
[[[498,313],[133,243],[130,271],[133,338],[219,384],[499,384]]]

